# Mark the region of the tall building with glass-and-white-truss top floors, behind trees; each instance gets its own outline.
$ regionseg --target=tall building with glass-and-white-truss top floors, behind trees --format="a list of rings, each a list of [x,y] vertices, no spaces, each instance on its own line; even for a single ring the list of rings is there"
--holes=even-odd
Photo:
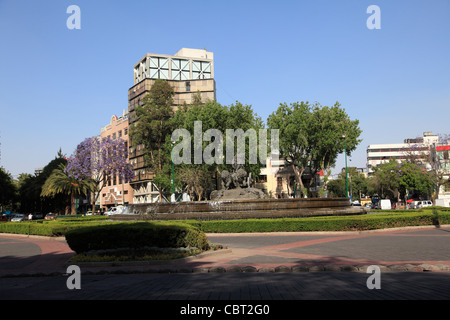
[[[147,53],[133,67],[133,86],[128,90],[130,125],[139,120],[135,109],[143,103],[156,79],[167,80],[174,88],[174,108],[190,104],[194,94],[200,94],[204,102],[216,99],[212,52],[182,48],[172,56]],[[159,192],[152,183],[154,175],[145,165],[143,146],[131,146],[130,163],[135,171],[135,179],[131,183],[133,203],[159,201]]]

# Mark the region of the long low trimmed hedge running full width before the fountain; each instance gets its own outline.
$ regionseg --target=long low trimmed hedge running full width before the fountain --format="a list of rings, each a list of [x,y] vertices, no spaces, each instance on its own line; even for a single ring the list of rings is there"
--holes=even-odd
[[[177,221],[177,222],[145,222],[149,225],[190,225],[196,230],[210,233],[224,232],[289,232],[289,231],[361,231],[383,228],[395,228],[406,226],[423,226],[450,224],[450,210],[448,208],[426,208],[427,210],[391,210],[388,212],[377,211],[375,214],[357,216],[323,216],[303,218],[276,218],[276,219],[239,219],[222,221]],[[2,222],[0,233],[32,234],[41,236],[64,236],[74,229],[115,225],[120,222],[99,221],[98,219],[64,218],[54,221],[31,222]],[[123,224],[122,222],[120,224]],[[136,224],[137,222],[127,222]],[[139,226],[144,226],[140,222]],[[138,225],[135,229],[138,229]],[[146,227],[149,228],[149,227]],[[157,227],[154,227],[157,228]],[[186,226],[184,226],[186,228]],[[190,229],[189,229],[190,230]],[[140,232],[134,230],[135,233]],[[156,232],[156,231],[155,231]],[[162,232],[162,231],[158,231]],[[188,234],[191,235],[190,231]],[[170,233],[170,234],[173,234]],[[195,238],[195,237],[194,237]],[[122,246],[121,246],[122,247]]]

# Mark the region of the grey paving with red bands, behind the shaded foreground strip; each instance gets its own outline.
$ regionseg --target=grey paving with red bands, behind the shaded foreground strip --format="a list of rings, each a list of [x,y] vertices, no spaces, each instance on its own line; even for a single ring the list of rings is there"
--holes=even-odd
[[[78,263],[85,274],[196,272],[450,272],[450,226],[366,232],[207,234],[226,249],[173,261]],[[66,273],[64,238],[0,234],[0,277]]]

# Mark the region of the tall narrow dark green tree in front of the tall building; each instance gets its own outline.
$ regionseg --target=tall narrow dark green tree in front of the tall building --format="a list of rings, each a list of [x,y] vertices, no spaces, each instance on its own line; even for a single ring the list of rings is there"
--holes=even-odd
[[[170,139],[174,129],[173,96],[170,84],[157,79],[144,97],[143,105],[136,108],[138,121],[130,128],[131,144],[144,147],[146,165],[155,174],[153,183],[159,189],[160,202],[163,190],[170,188],[171,148],[166,139]]]

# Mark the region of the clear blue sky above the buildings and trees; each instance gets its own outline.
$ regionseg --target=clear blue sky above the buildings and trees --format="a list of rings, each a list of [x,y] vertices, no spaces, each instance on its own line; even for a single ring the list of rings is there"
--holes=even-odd
[[[66,27],[72,4],[81,30]],[[72,154],[127,109],[140,58],[186,47],[214,52],[219,103],[263,120],[339,101],[363,130],[349,165],[365,167],[369,144],[450,133],[449,13],[448,0],[0,0],[0,166],[17,176]]]

